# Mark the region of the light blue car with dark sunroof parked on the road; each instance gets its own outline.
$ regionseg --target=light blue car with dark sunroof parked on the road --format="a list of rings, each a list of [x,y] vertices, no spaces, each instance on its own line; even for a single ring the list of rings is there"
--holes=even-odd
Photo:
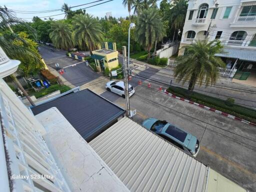
[[[142,126],[194,157],[199,152],[199,141],[195,136],[165,120],[147,118]]]

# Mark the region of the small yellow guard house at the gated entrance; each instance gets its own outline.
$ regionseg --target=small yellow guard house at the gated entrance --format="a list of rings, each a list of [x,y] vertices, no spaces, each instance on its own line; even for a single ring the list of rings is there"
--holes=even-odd
[[[94,58],[98,71],[104,71],[105,67],[115,68],[118,66],[118,51],[115,43],[104,42],[104,48],[92,51],[91,58]]]

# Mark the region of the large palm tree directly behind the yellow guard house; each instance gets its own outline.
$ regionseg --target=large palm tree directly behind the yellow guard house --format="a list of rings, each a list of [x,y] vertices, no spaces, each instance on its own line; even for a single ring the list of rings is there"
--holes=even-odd
[[[103,41],[103,32],[99,21],[89,14],[77,14],[73,17],[73,42],[79,46],[85,43],[92,50]]]

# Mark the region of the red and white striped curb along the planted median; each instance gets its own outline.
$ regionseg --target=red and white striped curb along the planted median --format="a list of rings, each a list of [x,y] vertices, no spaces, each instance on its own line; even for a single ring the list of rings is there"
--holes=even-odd
[[[176,95],[174,95],[174,94],[169,93],[166,89],[164,89],[164,92],[165,92],[166,94],[168,94],[169,96],[173,97],[173,98],[177,98],[177,99],[179,99],[179,100],[183,100],[183,101],[189,102],[189,103],[191,103],[191,104],[195,104],[195,105],[197,105],[197,106],[199,106],[199,107],[201,107],[201,108],[205,108],[205,109],[207,109],[207,110],[211,110],[211,111],[213,111],[213,112],[216,112],[216,113],[222,114],[222,115],[224,115],[224,116],[227,116],[228,118],[240,120],[240,121],[243,122],[243,123],[251,124],[251,125],[256,126],[256,123],[254,123],[254,122],[250,122],[250,121],[248,121],[248,120],[239,118],[239,117],[237,117],[237,116],[234,116],[234,115],[231,115],[231,114],[228,114],[228,113],[219,111],[219,110],[217,110],[217,109],[215,109],[215,108],[211,108],[211,107],[208,107],[208,106],[199,104],[199,103],[197,103],[197,102],[193,102],[193,101],[191,101],[191,100],[187,100],[187,99],[185,99],[185,98],[176,96]]]

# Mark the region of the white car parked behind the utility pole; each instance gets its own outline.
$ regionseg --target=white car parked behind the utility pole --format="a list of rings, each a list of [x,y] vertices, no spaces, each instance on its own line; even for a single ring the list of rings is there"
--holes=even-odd
[[[105,87],[108,91],[119,94],[120,96],[125,98],[124,82],[123,81],[111,80],[111,81],[106,83]],[[128,85],[128,87],[129,87],[129,96],[131,96],[132,94],[134,94],[135,89],[130,84]]]

